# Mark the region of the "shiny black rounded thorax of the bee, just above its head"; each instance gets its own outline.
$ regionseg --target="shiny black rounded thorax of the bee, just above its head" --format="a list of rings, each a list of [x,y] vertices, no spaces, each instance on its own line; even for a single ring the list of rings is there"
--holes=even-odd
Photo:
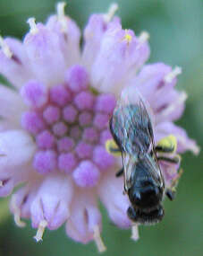
[[[148,178],[134,183],[128,190],[128,195],[133,207],[148,211],[160,204],[163,192],[163,188]]]

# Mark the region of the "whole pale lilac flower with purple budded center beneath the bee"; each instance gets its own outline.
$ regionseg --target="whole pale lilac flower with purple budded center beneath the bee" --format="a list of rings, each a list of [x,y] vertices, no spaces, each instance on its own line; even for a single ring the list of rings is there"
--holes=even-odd
[[[115,225],[131,226],[123,179],[114,175],[121,161],[106,151],[112,138],[108,120],[126,84],[148,101],[156,144],[173,134],[177,152],[199,151],[173,124],[186,99],[174,89],[179,68],[144,66],[148,33],[136,37],[123,30],[116,9],[113,4],[108,13],[90,16],[82,49],[80,30],[64,14],[64,3],[57,4],[46,24],[30,18],[22,42],[0,38],[0,73],[13,84],[0,86],[0,196],[23,184],[13,193],[11,211],[19,226],[25,225],[21,218],[30,218],[37,241],[46,227],[65,223],[73,240],[95,240],[104,251],[98,198]],[[163,172],[170,183],[177,166],[163,164]]]

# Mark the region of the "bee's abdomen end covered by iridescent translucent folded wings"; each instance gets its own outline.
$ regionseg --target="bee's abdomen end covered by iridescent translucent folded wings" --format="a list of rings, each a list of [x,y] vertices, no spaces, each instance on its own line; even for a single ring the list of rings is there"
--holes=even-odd
[[[134,86],[123,90],[112,118],[114,138],[123,151],[137,155],[148,152],[153,142],[150,112]]]

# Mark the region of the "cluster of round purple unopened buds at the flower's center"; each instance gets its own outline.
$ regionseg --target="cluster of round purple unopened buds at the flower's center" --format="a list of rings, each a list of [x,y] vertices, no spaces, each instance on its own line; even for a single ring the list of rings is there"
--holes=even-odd
[[[21,117],[21,125],[34,137],[38,148],[34,169],[41,174],[74,172],[81,187],[95,185],[100,172],[114,164],[105,143],[111,138],[108,120],[115,98],[112,94],[92,93],[84,74],[83,67],[73,66],[64,84],[47,90],[43,84],[30,81],[21,92],[30,105]]]

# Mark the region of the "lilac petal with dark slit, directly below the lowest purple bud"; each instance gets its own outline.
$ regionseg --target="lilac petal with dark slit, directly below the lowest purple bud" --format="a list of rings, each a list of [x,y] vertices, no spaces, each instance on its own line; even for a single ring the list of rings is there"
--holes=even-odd
[[[101,225],[94,190],[80,190],[72,202],[71,216],[66,223],[66,233],[76,242],[89,243],[94,227]]]

